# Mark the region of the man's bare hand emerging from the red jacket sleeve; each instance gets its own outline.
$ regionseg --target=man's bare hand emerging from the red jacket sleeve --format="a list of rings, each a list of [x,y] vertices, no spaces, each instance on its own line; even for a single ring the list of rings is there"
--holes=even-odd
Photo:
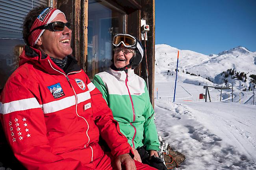
[[[119,155],[115,159],[115,164],[117,165],[118,170],[124,170],[122,169],[122,166],[125,167],[125,170],[136,170],[134,160],[129,154]]]

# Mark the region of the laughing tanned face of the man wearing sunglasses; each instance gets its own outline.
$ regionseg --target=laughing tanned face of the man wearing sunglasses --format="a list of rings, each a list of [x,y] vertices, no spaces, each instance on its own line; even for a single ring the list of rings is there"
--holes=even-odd
[[[64,14],[59,13],[52,22],[60,21],[67,23]],[[50,31],[45,30],[41,36],[42,45],[40,45],[40,50],[43,50],[46,54],[53,58],[62,60],[65,56],[72,53],[72,48],[70,47],[72,31],[65,26],[63,31]]]

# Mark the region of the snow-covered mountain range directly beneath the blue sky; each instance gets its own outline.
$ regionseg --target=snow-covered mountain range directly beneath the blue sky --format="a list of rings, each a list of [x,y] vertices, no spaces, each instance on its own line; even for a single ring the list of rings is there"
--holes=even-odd
[[[223,83],[220,74],[228,69],[247,74],[250,80],[251,74],[256,74],[256,52],[251,52],[245,47],[236,47],[219,54],[200,54],[189,50],[179,50],[166,44],[158,44],[155,49],[156,74],[167,72],[173,74],[177,65],[177,53],[179,51],[179,72],[189,72],[200,75],[202,78],[210,77],[214,83]],[[182,75],[182,77],[186,75]],[[189,76],[190,77],[190,76]],[[199,79],[199,78],[197,78]],[[199,81],[200,82],[200,81]],[[204,80],[206,83],[207,80]],[[230,80],[229,80],[230,82]],[[250,87],[250,81],[232,81],[236,87]],[[241,88],[240,88],[241,89]]]

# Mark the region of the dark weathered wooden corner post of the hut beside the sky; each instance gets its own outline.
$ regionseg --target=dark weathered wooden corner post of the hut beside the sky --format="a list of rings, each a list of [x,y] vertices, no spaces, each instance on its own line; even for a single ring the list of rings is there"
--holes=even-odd
[[[141,0],[141,18],[145,19],[150,31],[147,33],[148,91],[154,106],[154,72],[155,72],[155,0]],[[144,40],[142,42],[144,45]],[[147,65],[145,55],[141,63],[141,76],[147,81]]]

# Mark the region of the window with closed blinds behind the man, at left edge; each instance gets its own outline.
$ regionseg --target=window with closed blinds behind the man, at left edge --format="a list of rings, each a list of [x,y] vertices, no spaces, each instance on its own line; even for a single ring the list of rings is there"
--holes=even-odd
[[[1,0],[0,3],[0,90],[8,77],[17,69],[23,50],[22,24],[33,8],[48,5],[48,0]]]

